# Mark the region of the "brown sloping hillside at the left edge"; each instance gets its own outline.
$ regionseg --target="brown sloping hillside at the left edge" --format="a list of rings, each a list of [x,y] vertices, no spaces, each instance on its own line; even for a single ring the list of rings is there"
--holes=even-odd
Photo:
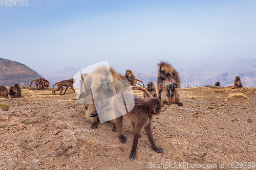
[[[34,70],[25,64],[0,58],[0,85],[20,87],[30,86],[31,81],[41,78]]]

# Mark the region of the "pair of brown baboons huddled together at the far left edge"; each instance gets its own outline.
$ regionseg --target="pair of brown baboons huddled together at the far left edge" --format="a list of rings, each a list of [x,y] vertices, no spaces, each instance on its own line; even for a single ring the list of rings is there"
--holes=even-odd
[[[0,96],[4,96],[5,98],[20,98],[22,97],[22,89],[20,89],[18,84],[11,86],[9,90],[5,86],[0,86]]]

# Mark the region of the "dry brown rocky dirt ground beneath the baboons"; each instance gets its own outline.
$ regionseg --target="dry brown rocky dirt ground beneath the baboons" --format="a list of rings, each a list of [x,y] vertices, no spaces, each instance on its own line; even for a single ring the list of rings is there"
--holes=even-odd
[[[195,165],[201,166],[197,169],[234,169],[232,162],[239,167],[235,169],[255,169],[255,91],[182,89],[184,106],[166,105],[154,117],[155,142],[164,153],[152,150],[143,131],[137,158],[131,161],[133,128],[127,119],[128,139],[123,144],[111,123],[91,129],[86,110],[73,100],[71,89],[65,95],[52,95],[51,89],[22,88],[24,98],[0,99],[0,104],[12,106],[0,110],[0,169],[194,169]],[[249,99],[223,101],[234,92]]]

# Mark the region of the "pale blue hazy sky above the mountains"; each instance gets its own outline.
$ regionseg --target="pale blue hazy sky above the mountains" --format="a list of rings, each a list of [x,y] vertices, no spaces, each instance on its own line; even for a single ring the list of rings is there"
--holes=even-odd
[[[37,72],[255,57],[256,1],[33,1],[0,6],[0,57]],[[2,5],[2,4],[0,4]]]

